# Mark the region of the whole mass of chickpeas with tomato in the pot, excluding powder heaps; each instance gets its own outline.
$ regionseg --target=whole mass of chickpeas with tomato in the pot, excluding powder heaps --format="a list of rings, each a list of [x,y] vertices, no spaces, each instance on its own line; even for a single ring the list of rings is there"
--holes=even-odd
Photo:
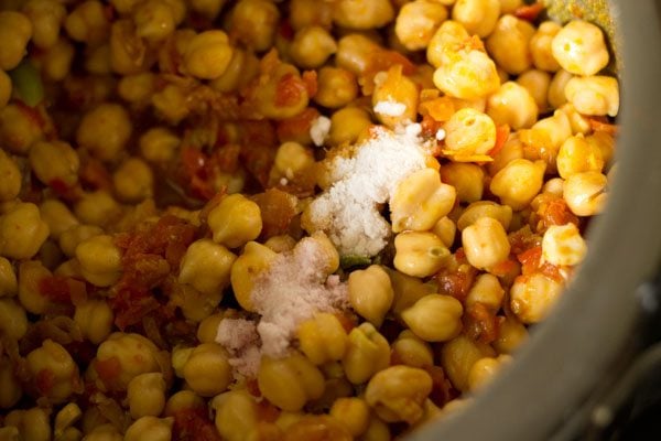
[[[510,363],[606,202],[607,42],[540,3],[0,7],[0,440],[405,435]],[[388,246],[340,256],[328,164],[410,123]],[[241,375],[217,330],[307,237],[349,308]]]

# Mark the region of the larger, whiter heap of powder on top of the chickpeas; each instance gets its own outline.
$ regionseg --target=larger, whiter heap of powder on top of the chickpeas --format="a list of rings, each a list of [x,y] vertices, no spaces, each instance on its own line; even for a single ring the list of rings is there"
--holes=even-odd
[[[376,128],[353,158],[329,163],[334,184],[310,205],[310,222],[325,232],[343,256],[375,256],[386,246],[390,224],[379,213],[398,183],[425,166],[419,123],[390,131]]]

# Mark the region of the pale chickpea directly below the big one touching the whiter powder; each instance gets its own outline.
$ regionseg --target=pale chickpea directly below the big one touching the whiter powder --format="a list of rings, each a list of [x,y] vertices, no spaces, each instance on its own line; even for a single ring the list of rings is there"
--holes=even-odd
[[[408,276],[427,277],[437,272],[449,250],[433,233],[403,232],[394,238],[394,268]]]

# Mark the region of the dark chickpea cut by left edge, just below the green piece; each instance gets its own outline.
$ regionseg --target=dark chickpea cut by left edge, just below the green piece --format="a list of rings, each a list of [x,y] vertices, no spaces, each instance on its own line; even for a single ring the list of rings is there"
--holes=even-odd
[[[43,135],[39,123],[21,107],[9,104],[0,108],[0,142],[8,152],[26,154]]]

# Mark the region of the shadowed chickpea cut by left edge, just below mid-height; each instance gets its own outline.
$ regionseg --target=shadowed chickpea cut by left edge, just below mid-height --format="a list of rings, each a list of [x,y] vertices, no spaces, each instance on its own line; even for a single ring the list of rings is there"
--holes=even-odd
[[[48,233],[36,205],[18,203],[0,216],[0,255],[29,259],[36,255]]]

